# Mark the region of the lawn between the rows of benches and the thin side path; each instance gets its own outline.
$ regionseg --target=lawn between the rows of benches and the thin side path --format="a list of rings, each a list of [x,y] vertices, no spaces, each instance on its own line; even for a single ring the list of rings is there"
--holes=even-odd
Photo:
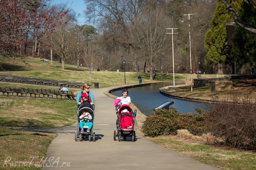
[[[76,122],[76,101],[0,97],[0,125],[64,127]]]

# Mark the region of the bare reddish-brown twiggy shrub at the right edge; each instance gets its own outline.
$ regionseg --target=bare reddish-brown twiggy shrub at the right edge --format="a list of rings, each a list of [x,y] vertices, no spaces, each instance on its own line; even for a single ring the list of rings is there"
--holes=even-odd
[[[256,102],[250,94],[239,97],[234,92],[230,100],[212,104],[205,125],[215,136],[222,137],[224,144],[256,149]]]

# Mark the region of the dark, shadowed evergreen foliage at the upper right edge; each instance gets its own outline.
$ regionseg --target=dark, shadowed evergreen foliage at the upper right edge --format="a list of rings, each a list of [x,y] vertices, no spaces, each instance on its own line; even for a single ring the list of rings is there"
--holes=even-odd
[[[239,17],[250,26],[256,27],[256,9],[243,2]],[[256,34],[247,31],[241,26],[236,26],[232,37],[233,48],[231,55],[236,65],[242,67],[247,63],[256,65]]]

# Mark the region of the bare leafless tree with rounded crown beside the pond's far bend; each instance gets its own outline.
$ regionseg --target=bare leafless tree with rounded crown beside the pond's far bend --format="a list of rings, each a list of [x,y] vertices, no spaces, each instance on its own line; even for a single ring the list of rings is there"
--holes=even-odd
[[[150,65],[150,79],[153,80],[153,65],[172,43],[166,28],[171,20],[160,9],[151,10],[130,24],[130,35],[138,51],[142,52]]]

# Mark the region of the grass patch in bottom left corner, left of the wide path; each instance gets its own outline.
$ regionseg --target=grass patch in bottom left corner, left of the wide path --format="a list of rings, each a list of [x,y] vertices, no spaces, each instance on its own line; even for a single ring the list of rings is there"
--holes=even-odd
[[[41,164],[36,166],[36,162],[46,158],[49,144],[58,135],[57,133],[30,130],[12,130],[2,126],[0,126],[0,134],[1,170],[41,170]],[[38,156],[38,158],[35,156]],[[35,157],[33,161],[31,157]],[[4,164],[5,161],[6,164]],[[15,161],[21,161],[20,166],[10,166],[11,164],[15,165]],[[29,166],[31,161],[32,163]],[[27,166],[21,166],[22,164]]]

